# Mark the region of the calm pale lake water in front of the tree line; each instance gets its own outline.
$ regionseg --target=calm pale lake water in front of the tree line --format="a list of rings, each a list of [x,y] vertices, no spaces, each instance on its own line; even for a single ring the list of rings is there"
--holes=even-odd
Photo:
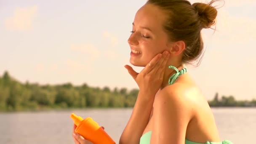
[[[213,108],[221,139],[255,144],[256,108]],[[70,114],[92,117],[118,144],[132,109],[0,113],[0,144],[74,144]]]

